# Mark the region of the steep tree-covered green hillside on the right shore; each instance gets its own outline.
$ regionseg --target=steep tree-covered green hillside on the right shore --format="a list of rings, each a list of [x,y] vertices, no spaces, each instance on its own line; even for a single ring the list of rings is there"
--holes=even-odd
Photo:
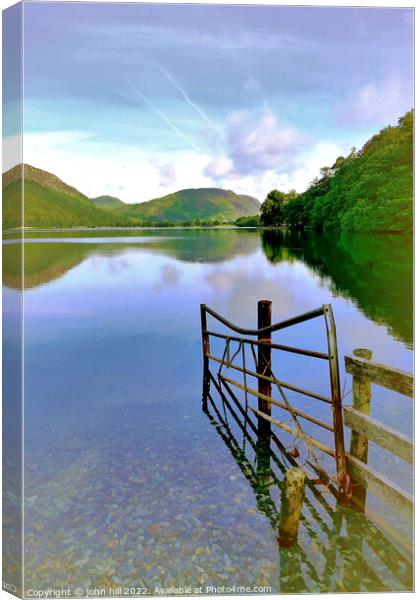
[[[274,220],[291,227],[412,231],[413,111],[374,135],[360,151],[354,149],[321,169],[302,194],[280,193],[278,198],[277,206],[273,200],[264,203],[264,225],[277,213]]]

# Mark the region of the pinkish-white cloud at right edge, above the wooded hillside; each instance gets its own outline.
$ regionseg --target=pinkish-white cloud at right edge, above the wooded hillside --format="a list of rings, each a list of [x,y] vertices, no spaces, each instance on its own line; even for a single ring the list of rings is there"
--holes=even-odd
[[[336,111],[340,123],[348,125],[393,124],[413,105],[412,92],[398,75],[361,87],[354,98]]]

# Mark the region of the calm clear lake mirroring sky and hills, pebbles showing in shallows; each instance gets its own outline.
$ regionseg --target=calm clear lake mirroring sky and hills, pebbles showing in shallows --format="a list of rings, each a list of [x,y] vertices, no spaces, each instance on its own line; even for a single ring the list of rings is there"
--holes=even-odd
[[[3,247],[7,308],[19,297],[21,249]],[[331,303],[349,404],[344,355],[354,348],[412,371],[411,238],[39,232],[24,253],[26,588],[412,589],[412,525],[370,495],[375,523],[326,488],[308,492],[298,544],[279,548],[278,488],[247,478],[258,470],[252,432],[214,392],[214,406],[202,403],[199,311],[204,302],[255,328],[261,298],[273,301],[273,321]],[[6,325],[6,349],[11,339]],[[325,347],[315,322],[275,341]],[[287,355],[277,367],[328,391],[310,361]],[[372,416],[413,434],[408,398],[374,389]],[[411,488],[397,458],[372,445],[369,462]]]

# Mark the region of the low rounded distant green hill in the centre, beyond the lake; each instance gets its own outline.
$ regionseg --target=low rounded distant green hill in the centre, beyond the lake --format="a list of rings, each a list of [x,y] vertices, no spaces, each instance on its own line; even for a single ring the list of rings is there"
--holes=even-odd
[[[219,188],[186,189],[141,204],[126,204],[113,211],[130,219],[148,222],[220,221],[231,223],[239,217],[255,215],[256,198]]]

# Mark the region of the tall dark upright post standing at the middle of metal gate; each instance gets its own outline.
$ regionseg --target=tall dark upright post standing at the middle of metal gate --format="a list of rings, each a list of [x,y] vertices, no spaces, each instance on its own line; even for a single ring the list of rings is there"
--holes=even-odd
[[[271,300],[259,300],[258,302],[258,329],[270,327],[271,325]],[[271,331],[269,333],[259,333],[259,342],[267,342],[266,345],[258,345],[258,365],[257,373],[271,377]],[[271,398],[271,383],[265,379],[258,379],[258,393]],[[271,415],[271,402],[258,398],[258,410],[266,415]],[[258,429],[260,433],[269,433],[271,430],[270,422],[259,418]]]

